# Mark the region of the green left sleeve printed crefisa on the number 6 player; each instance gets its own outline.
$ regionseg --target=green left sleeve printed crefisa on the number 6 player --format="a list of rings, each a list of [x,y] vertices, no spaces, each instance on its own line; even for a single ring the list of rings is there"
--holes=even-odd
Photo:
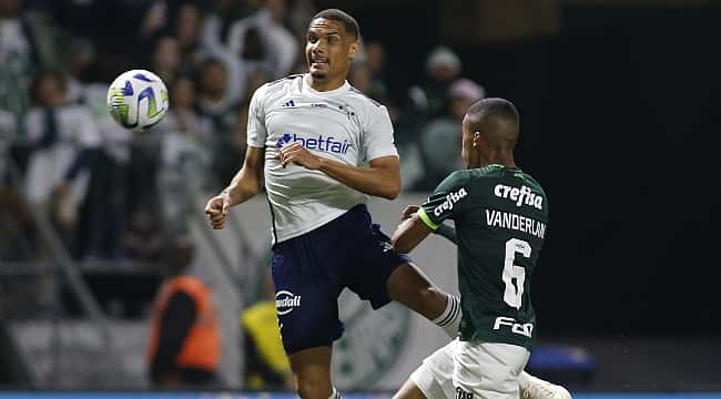
[[[470,194],[467,182],[466,174],[454,172],[420,205],[418,216],[430,229],[435,231],[445,219],[463,214]]]

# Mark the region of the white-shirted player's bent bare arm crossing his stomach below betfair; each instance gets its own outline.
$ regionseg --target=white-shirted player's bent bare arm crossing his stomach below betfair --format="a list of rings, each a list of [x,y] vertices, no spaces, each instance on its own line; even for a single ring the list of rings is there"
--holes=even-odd
[[[301,143],[293,143],[281,149],[275,158],[284,166],[294,163],[321,171],[368,195],[394,200],[400,191],[400,163],[395,155],[372,160],[368,167],[357,167],[315,155]]]

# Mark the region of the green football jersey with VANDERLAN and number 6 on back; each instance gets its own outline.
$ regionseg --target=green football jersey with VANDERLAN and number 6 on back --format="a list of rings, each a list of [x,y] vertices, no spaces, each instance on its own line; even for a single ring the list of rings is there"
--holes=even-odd
[[[461,340],[532,348],[536,316],[530,276],[548,228],[540,184],[518,167],[488,165],[457,171],[418,211],[437,229],[456,225]]]

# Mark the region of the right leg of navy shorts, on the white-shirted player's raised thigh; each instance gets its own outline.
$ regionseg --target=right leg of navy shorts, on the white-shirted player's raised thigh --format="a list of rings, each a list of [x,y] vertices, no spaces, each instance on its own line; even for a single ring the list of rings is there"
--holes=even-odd
[[[408,256],[396,253],[390,238],[378,225],[366,225],[357,232],[345,267],[345,285],[377,309],[392,300],[386,283],[390,275],[408,263]]]

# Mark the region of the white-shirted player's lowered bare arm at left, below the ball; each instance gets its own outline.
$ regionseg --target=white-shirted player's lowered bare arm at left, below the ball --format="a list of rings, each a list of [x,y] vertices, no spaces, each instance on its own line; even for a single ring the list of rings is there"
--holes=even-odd
[[[264,157],[264,149],[248,146],[243,167],[235,174],[231,184],[207,201],[205,213],[209,215],[213,228],[223,228],[225,216],[231,207],[248,201],[261,191]]]

